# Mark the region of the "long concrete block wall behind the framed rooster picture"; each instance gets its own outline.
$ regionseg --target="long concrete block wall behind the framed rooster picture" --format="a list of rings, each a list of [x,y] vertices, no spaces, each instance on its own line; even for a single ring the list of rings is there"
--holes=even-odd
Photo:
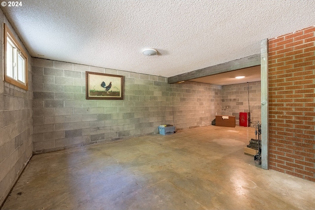
[[[123,75],[124,100],[86,100],[86,71]],[[32,80],[34,153],[158,133],[174,124],[173,111],[179,129],[210,124],[221,97],[211,85],[36,58]]]

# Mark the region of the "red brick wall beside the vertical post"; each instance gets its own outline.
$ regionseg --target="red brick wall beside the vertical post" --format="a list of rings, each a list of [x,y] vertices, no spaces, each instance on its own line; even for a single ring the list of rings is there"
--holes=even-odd
[[[315,181],[315,27],[269,39],[269,166]]]

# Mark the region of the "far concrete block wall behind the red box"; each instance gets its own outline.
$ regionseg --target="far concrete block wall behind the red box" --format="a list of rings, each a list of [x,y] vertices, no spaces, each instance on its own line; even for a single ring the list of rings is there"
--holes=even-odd
[[[222,86],[222,115],[235,116],[239,125],[239,113],[251,111],[251,125],[261,122],[260,81]]]

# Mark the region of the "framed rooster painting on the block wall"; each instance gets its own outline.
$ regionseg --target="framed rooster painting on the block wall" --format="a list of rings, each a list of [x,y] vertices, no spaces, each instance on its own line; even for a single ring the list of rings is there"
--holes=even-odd
[[[124,99],[124,76],[86,72],[86,99]]]

